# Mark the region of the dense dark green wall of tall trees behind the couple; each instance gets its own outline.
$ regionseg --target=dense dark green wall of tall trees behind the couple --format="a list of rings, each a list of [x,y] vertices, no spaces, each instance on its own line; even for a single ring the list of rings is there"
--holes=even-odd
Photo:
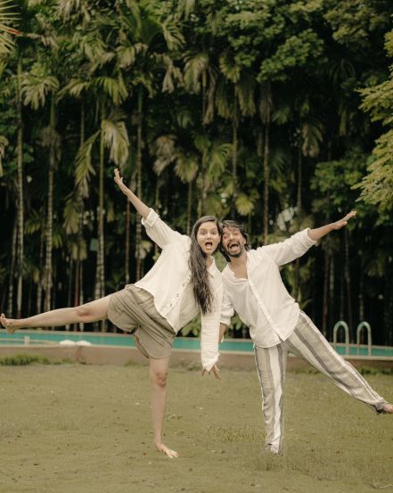
[[[119,167],[184,233],[208,212],[258,245],[356,209],[282,275],[329,337],[367,320],[393,343],[390,0],[16,4],[0,60],[2,311],[73,306],[151,267]]]

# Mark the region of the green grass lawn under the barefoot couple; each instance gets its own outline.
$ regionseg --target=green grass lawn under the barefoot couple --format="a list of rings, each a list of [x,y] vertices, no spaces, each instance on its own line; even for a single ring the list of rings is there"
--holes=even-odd
[[[165,443],[151,446],[147,366],[1,366],[1,493],[393,491],[393,416],[321,374],[287,374],[285,453],[262,452],[256,371],[222,382],[171,368]],[[393,376],[367,380],[393,400]]]

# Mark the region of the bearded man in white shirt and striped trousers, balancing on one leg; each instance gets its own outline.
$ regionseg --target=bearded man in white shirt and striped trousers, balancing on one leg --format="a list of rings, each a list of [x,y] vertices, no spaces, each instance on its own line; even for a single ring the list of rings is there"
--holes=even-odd
[[[248,235],[234,221],[224,221],[221,248],[228,260],[223,275],[225,296],[220,336],[233,311],[250,327],[262,389],[266,425],[266,450],[282,452],[283,383],[288,352],[303,357],[354,398],[378,414],[392,414],[393,405],[382,399],[334,351],[310,318],[287,292],[279,267],[298,259],[325,234],[340,229],[356,215],[317,229],[305,229],[284,242],[249,250]]]

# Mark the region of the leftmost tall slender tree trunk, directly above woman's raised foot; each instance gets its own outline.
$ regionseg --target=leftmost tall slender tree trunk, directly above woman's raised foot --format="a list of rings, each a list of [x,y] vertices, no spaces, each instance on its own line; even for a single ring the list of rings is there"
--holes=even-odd
[[[23,119],[21,103],[21,56],[18,60],[17,76],[17,105],[18,105],[18,144],[17,144],[17,162],[18,162],[18,289],[16,295],[16,313],[17,317],[21,316],[22,290],[23,290],[23,238],[24,238],[24,214],[23,214]]]

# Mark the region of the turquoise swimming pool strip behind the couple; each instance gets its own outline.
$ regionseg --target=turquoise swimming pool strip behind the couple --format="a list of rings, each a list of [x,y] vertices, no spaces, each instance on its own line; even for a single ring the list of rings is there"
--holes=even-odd
[[[134,338],[127,333],[74,333],[60,331],[20,331],[19,333],[0,332],[0,345],[25,346],[39,344],[59,344],[60,341],[88,341],[99,346],[135,347]],[[190,337],[176,337],[174,349],[200,350],[200,340]],[[338,344],[337,352],[345,355],[345,344]],[[250,340],[227,339],[220,343],[220,351],[232,353],[252,353],[253,344]],[[349,356],[368,356],[367,346],[361,346],[357,352],[356,344],[349,344]],[[393,348],[389,346],[373,346],[373,357],[393,357]]]

